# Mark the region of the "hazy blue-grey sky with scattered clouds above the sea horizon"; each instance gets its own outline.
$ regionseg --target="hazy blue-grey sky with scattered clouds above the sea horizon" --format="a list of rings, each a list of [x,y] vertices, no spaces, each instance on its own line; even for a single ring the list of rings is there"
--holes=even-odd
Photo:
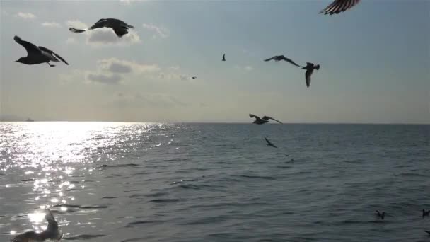
[[[330,2],[0,0],[0,118],[430,124],[430,1],[319,14]],[[68,30],[100,18],[135,28]],[[69,65],[14,62],[15,35]],[[279,54],[320,64],[310,88],[304,70],[263,61]]]

